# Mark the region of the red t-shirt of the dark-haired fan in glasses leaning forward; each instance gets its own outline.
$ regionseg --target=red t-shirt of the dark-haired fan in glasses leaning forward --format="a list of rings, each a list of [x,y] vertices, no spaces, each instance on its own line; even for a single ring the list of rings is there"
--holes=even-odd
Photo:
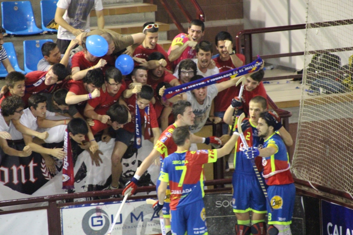
[[[121,87],[114,96],[109,95],[109,93],[103,92],[103,89],[100,89],[101,95],[99,97],[96,97],[94,99],[90,99],[87,101],[89,105],[91,105],[94,108],[94,111],[100,115],[105,115],[106,112],[108,111],[109,107],[112,106],[116,101],[119,100],[122,92],[125,91],[126,89],[126,84],[125,81],[121,81]]]

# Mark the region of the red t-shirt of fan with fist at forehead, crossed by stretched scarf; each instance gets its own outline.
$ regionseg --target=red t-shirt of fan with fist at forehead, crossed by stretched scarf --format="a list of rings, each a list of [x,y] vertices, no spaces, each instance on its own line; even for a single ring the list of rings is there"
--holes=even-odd
[[[236,55],[241,61],[243,61],[243,65],[244,65],[245,56],[243,54],[236,54]],[[216,67],[219,68],[220,73],[235,68],[231,58],[229,58],[229,60],[227,61],[222,61],[219,56],[217,58],[214,58],[213,60],[216,62]],[[231,105],[232,103],[232,99],[235,96],[239,95],[240,86],[241,85],[229,87],[217,94],[214,101],[215,104],[217,104],[215,105],[215,112],[223,112],[228,109],[229,105]]]

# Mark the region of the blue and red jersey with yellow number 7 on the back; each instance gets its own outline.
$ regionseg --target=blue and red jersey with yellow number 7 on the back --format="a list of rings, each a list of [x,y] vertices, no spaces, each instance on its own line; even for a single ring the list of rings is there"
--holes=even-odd
[[[216,161],[216,149],[174,152],[164,159],[159,180],[169,183],[170,210],[203,198],[203,165]]]

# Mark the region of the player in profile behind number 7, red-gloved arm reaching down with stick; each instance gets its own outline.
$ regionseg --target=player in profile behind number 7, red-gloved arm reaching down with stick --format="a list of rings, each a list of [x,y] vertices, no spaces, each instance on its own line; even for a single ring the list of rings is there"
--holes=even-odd
[[[168,126],[166,130],[164,130],[159,137],[154,149],[151,153],[146,157],[145,160],[141,163],[139,168],[137,169],[133,178],[126,183],[126,188],[122,192],[125,196],[126,193],[130,195],[133,194],[137,188],[138,180],[140,179],[141,175],[147,170],[149,166],[160,156],[161,163],[163,159],[167,157],[169,154],[174,153],[177,150],[177,145],[174,143],[172,138],[172,133],[175,128],[178,126],[191,126],[194,124],[195,114],[192,112],[191,103],[185,100],[179,100],[175,104],[173,104],[173,115],[176,117],[175,123]],[[190,140],[192,143],[215,143],[220,144],[221,141],[219,138],[215,136],[203,138],[196,135],[191,134]],[[157,188],[160,181],[157,180]],[[168,197],[167,197],[168,198]],[[170,222],[169,222],[169,203],[164,203],[163,208],[163,217],[165,218],[166,222],[166,232],[168,232],[168,227],[170,231]]]

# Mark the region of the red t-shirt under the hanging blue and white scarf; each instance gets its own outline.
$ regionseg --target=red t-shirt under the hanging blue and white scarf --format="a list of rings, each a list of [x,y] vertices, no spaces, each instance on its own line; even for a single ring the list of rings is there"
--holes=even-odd
[[[127,106],[130,109],[131,113],[131,122],[127,123],[124,125],[123,129],[135,133],[135,108],[136,108],[136,98],[137,95],[132,95],[130,98],[125,99]],[[145,109],[139,109],[140,111],[140,118],[141,118],[141,126],[144,126],[145,124]],[[151,129],[152,128],[158,128],[158,122],[157,122],[157,117],[156,117],[156,111],[154,110],[154,107],[152,103],[150,103],[150,120],[151,120]]]

